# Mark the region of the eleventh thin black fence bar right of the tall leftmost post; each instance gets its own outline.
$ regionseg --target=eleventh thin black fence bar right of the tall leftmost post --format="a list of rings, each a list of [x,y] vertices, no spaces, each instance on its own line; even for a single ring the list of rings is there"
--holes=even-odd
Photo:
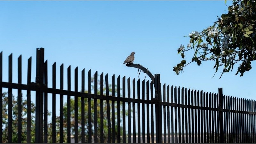
[[[115,97],[115,75],[112,76],[112,97]],[[112,100],[112,143],[116,143],[116,129],[115,129],[115,101]]]

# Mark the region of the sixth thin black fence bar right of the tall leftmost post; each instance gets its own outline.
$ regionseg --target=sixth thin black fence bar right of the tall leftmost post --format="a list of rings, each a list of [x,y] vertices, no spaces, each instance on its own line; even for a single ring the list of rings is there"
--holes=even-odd
[[[84,73],[84,69],[82,70],[82,74],[81,74],[81,92],[84,92],[85,86],[84,86],[84,77],[85,77],[85,73]],[[84,116],[84,97],[81,98],[81,142],[85,143],[85,134],[84,134],[84,120],[85,120],[85,116]]]

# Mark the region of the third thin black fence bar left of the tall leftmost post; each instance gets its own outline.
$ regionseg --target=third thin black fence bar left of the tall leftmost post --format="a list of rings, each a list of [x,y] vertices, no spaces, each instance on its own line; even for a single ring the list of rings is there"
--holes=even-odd
[[[12,53],[9,55],[8,82],[12,83]],[[8,143],[12,143],[12,88],[8,88]]]

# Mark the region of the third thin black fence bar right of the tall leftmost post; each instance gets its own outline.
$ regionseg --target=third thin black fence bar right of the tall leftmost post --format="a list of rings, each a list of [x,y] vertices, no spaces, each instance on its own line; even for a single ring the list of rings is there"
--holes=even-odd
[[[60,90],[63,90],[63,64],[60,65]],[[63,143],[63,94],[60,94],[60,143]]]

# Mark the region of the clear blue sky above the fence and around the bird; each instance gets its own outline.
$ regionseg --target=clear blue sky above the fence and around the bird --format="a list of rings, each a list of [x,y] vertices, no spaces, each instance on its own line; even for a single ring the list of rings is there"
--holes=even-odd
[[[231,5],[232,1],[227,1]],[[8,56],[13,53],[13,82],[17,83],[17,59],[22,54],[22,83],[27,80],[27,60],[32,56],[32,81],[35,81],[36,48],[45,48],[49,86],[52,64],[64,63],[71,75],[78,66],[92,74],[108,73],[138,79],[136,68],[123,65],[131,52],[152,74],[160,74],[162,84],[184,86],[206,92],[255,98],[255,62],[243,77],[232,73],[220,77],[214,61],[192,63],[176,75],[173,67],[182,58],[180,44],[187,45],[191,31],[212,26],[217,16],[227,13],[225,1],[0,1],[0,51],[3,51],[3,81],[8,81]],[[191,53],[190,53],[191,54]],[[185,53],[185,60],[192,55]],[[87,75],[86,75],[87,76]],[[149,78],[149,77],[148,77]],[[71,89],[74,90],[72,77]],[[140,75],[141,81],[144,75]],[[148,80],[148,79],[147,79]],[[57,77],[57,88],[59,77]],[[79,85],[80,86],[80,85]],[[81,86],[80,86],[81,87]],[[64,86],[65,89],[65,86]],[[79,88],[81,90],[81,88]],[[16,91],[15,91],[16,92]]]

